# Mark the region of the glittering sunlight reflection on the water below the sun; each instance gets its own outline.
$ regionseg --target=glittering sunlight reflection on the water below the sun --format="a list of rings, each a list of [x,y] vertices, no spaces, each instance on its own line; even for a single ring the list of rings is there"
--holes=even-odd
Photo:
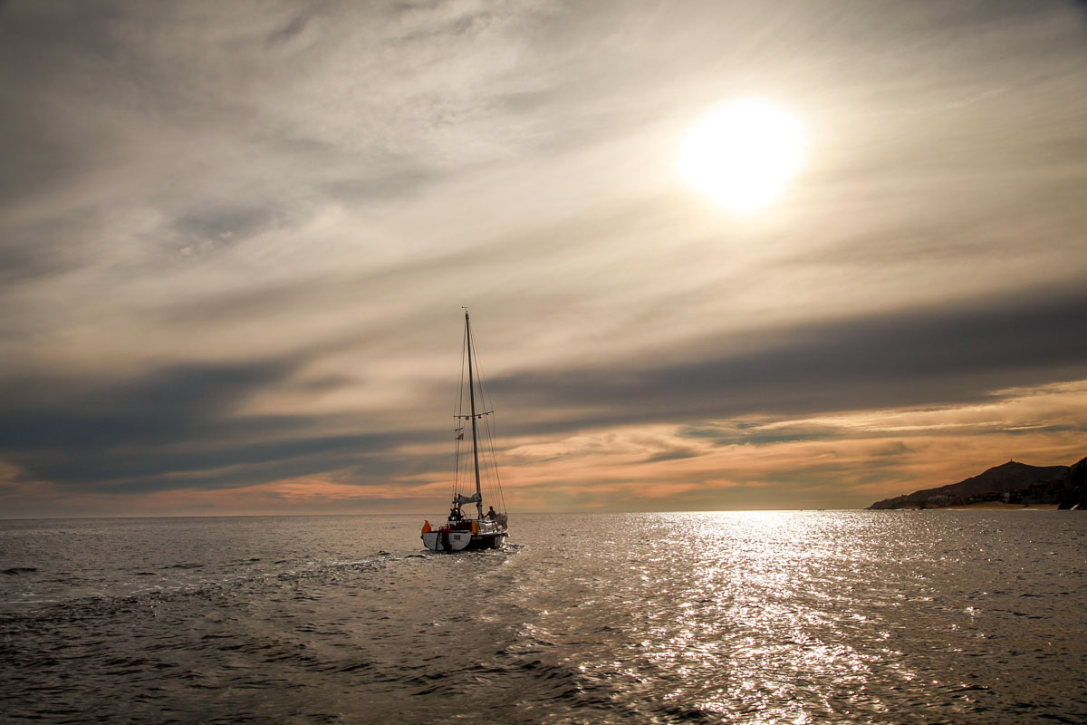
[[[591,613],[570,602],[540,623],[567,663],[635,712],[650,714],[642,700],[665,720],[751,723],[986,712],[990,686],[978,680],[999,648],[974,651],[977,666],[949,658],[963,652],[960,633],[976,629],[977,609],[948,599],[963,585],[967,597],[984,591],[991,572],[974,566],[972,542],[947,526],[953,518],[751,512],[612,523],[609,547],[586,540],[563,566]],[[554,586],[536,579],[525,593]],[[607,623],[620,624],[586,637]]]

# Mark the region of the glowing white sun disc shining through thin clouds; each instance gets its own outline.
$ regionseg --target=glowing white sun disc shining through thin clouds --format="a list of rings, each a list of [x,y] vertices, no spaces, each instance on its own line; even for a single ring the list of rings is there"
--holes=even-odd
[[[784,109],[739,99],[707,113],[684,138],[679,168],[699,191],[733,211],[775,201],[799,171],[804,139]]]

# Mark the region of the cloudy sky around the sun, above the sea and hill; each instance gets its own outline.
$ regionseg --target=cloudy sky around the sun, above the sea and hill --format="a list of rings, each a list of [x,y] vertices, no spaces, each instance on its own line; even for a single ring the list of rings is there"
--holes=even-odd
[[[462,305],[513,513],[1087,455],[1080,3],[15,0],[0,138],[0,517],[440,513]]]

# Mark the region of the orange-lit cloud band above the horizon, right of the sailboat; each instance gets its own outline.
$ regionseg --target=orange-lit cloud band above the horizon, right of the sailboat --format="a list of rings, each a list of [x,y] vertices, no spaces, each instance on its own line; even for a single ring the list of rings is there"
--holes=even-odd
[[[979,404],[632,425],[548,443],[527,437],[510,451],[508,488],[545,509],[866,507],[1009,459],[1075,462],[1087,432],[1085,395],[1079,380],[996,391]],[[1017,428],[1032,420],[1047,424]],[[782,430],[789,435],[775,435]],[[680,448],[698,454],[646,461],[647,453]]]

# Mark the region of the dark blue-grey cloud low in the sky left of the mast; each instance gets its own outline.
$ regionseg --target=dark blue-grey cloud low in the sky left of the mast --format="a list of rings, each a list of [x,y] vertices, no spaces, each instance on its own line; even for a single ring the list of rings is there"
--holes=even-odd
[[[114,492],[222,488],[350,467],[358,483],[376,483],[435,463],[388,457],[410,439],[403,434],[323,435],[318,417],[236,412],[295,368],[293,361],[174,365],[108,386],[9,380],[0,390],[0,455],[29,479]]]

